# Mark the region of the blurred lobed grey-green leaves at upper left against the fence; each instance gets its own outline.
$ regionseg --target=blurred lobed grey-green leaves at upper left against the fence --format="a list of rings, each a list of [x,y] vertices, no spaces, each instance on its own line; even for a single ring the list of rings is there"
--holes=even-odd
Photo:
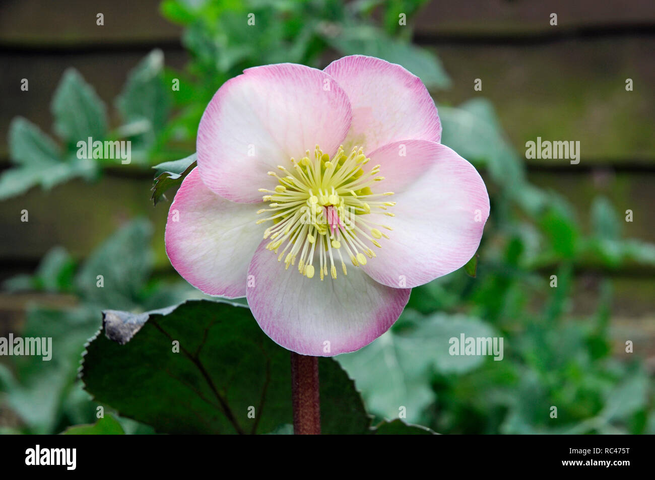
[[[163,83],[163,54],[154,50],[128,76],[116,100],[122,124],[109,130],[107,107],[82,75],[69,68],[52,98],[53,130],[58,145],[39,127],[22,117],[9,126],[9,157],[14,164],[0,176],[0,200],[24,193],[35,185],[50,189],[74,177],[96,179],[102,168],[121,164],[121,158],[88,157],[78,142],[132,141],[130,161],[145,164],[157,158],[162,129],[170,111],[170,93]],[[116,155],[115,155],[116,156]]]

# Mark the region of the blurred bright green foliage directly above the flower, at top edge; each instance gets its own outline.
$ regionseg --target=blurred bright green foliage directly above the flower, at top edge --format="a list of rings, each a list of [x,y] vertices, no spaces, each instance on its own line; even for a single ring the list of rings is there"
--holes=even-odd
[[[180,112],[170,124],[171,134],[195,141],[205,105],[221,84],[244,69],[281,62],[323,67],[330,49],[338,56],[368,54],[402,63],[430,88],[449,86],[432,52],[411,45],[397,30],[385,33],[373,20],[374,13],[381,13],[389,22],[395,16],[397,24],[402,4],[411,14],[420,3],[164,0],[162,14],[185,26],[182,42],[193,57],[186,72],[168,73],[181,84],[175,96]]]

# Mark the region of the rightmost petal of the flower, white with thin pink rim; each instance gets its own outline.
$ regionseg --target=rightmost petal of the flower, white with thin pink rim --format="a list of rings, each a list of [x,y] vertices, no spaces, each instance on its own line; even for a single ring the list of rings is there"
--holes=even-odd
[[[392,143],[371,154],[371,162],[398,164],[400,143],[405,143],[405,162],[412,174],[397,182],[400,192],[388,197],[396,206],[386,212],[395,216],[378,217],[379,223],[392,227],[381,230],[390,238],[379,240],[377,257],[362,268],[384,285],[416,287],[457,270],[473,257],[489,217],[489,195],[474,166],[441,143]],[[418,176],[417,166],[423,169]],[[407,183],[412,176],[415,181]],[[380,183],[391,177],[385,175]]]

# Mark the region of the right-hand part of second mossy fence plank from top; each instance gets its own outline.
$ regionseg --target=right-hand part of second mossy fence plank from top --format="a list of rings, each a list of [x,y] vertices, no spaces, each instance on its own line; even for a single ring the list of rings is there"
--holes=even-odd
[[[655,163],[655,38],[567,41],[518,46],[441,46],[453,88],[438,103],[488,98],[512,145],[538,137],[580,141],[580,163],[526,160],[574,169],[593,164]],[[633,91],[626,91],[626,79]],[[482,90],[474,90],[481,79]]]

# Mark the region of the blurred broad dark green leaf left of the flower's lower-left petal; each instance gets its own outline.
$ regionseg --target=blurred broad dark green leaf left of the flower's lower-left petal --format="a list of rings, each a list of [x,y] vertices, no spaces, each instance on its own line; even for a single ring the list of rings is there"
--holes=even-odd
[[[139,293],[150,276],[153,261],[151,235],[148,221],[135,220],[94,250],[75,278],[84,301],[109,308],[139,306]]]

